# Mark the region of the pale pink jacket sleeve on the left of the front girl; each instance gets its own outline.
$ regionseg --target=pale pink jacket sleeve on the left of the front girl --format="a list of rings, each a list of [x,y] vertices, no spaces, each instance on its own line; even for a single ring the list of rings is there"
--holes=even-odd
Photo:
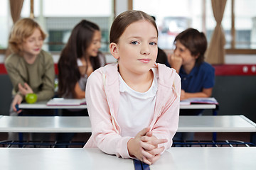
[[[102,82],[102,73],[95,71],[87,80],[85,98],[92,124],[92,141],[102,152],[115,154],[117,157],[131,158],[127,142],[131,137],[122,137],[111,115]]]

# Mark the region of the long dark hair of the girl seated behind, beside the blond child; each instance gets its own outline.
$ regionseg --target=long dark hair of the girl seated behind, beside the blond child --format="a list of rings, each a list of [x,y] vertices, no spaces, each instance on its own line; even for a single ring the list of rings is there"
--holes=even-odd
[[[81,75],[78,69],[78,58],[85,57],[86,62],[91,62],[95,70],[100,67],[100,59],[97,57],[87,57],[86,51],[92,42],[95,30],[100,30],[99,26],[90,21],[82,20],[73,28],[68,43],[60,53],[58,61],[58,94],[73,93],[75,84]],[[87,69],[87,68],[86,68]]]

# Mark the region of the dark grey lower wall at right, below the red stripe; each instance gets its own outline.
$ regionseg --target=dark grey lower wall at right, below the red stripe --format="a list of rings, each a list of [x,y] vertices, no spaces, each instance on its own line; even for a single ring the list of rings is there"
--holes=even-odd
[[[256,76],[216,76],[213,96],[219,102],[218,115],[245,115],[256,123]]]

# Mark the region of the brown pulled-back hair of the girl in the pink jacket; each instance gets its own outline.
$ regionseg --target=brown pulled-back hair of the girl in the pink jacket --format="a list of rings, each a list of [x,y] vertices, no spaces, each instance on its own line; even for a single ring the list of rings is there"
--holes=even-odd
[[[140,20],[149,21],[156,28],[156,32],[158,35],[158,30],[154,18],[149,16],[147,13],[143,11],[130,10],[120,13],[117,18],[114,19],[112,26],[110,28],[110,43],[118,43],[119,38],[124,33],[124,30],[132,23]]]

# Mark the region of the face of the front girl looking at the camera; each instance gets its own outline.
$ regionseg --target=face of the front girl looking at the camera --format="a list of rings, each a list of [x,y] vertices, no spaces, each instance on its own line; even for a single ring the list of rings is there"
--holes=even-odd
[[[157,57],[156,28],[145,20],[130,24],[120,36],[114,53],[121,74],[122,71],[130,74],[149,72]]]

